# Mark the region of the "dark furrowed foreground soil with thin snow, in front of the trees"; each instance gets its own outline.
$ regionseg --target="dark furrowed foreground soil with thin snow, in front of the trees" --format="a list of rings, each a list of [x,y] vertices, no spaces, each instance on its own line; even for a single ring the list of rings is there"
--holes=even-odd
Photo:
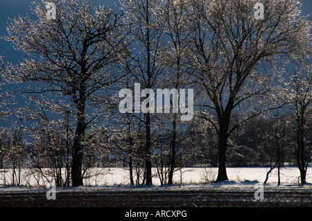
[[[44,187],[0,188],[0,207],[312,207],[312,186],[263,186],[263,199],[255,195],[257,182],[219,182],[171,186],[79,186],[55,189],[48,199]],[[51,192],[50,192],[51,193]],[[50,195],[51,196],[51,195]]]

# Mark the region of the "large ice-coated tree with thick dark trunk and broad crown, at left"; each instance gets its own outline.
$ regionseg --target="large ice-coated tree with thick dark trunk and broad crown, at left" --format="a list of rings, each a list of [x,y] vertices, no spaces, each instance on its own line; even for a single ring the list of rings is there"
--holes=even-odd
[[[70,104],[69,112],[76,118],[71,179],[73,186],[80,186],[85,131],[95,118],[87,110],[94,103],[105,103],[101,91],[121,78],[114,71],[123,51],[121,15],[87,0],[51,2],[55,7],[46,8],[45,1],[33,3],[35,19],[19,15],[10,20],[5,39],[24,51],[26,58],[6,70],[15,82],[33,82],[26,91],[53,95],[49,102],[61,104],[63,98]]]

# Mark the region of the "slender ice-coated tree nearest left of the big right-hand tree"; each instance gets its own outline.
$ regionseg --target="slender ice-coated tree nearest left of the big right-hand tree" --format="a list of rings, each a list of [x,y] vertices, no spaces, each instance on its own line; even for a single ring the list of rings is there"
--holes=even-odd
[[[167,45],[161,51],[161,62],[165,68],[166,74],[163,76],[162,85],[164,88],[181,89],[189,84],[189,75],[187,70],[184,70],[183,65],[186,48],[190,41],[190,33],[186,32],[185,15],[187,12],[188,2],[183,0],[166,0],[160,5],[161,14],[159,19],[164,21],[164,35],[167,40]],[[171,100],[171,106],[173,100]],[[177,114],[173,113],[171,118],[172,122],[171,141],[168,163],[168,184],[173,184],[173,172],[176,166],[177,159],[177,145],[179,142],[178,132],[179,124]],[[168,136],[168,135],[166,135]]]

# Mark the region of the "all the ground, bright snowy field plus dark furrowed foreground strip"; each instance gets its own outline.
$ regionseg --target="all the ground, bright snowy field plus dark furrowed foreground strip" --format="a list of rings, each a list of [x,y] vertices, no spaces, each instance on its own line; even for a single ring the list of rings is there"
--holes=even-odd
[[[220,207],[259,206],[312,207],[311,166],[307,182],[298,186],[298,170],[286,167],[281,170],[281,185],[277,186],[276,172],[273,171],[268,184],[262,186],[268,168],[227,168],[229,181],[205,183],[216,178],[216,168],[183,168],[175,172],[175,184],[153,186],[129,186],[128,170],[125,168],[95,168],[93,173],[101,175],[85,180],[85,186],[55,188],[55,200],[48,200],[52,189],[28,184],[40,177],[23,178],[25,186],[0,186],[0,207],[6,206],[92,206],[92,207]],[[10,175],[10,171],[2,173]],[[156,172],[154,170],[154,172]],[[26,172],[25,172],[26,173]],[[182,177],[181,177],[182,175]],[[181,184],[182,178],[182,184]],[[9,177],[6,177],[8,182]],[[3,182],[0,178],[0,184]],[[258,186],[260,183],[260,186]],[[256,199],[261,190],[263,199]],[[51,193],[51,192],[50,192]],[[260,193],[260,192],[258,192]],[[257,194],[258,195],[258,194]],[[260,196],[260,195],[258,195]]]

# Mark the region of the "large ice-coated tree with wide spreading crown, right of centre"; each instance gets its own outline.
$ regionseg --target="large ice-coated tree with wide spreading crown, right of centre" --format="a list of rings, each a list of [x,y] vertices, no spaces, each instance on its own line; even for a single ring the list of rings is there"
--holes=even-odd
[[[207,98],[203,105],[208,112],[202,117],[218,134],[217,182],[227,179],[229,135],[252,116],[278,106],[263,102],[275,89],[272,82],[280,74],[279,64],[311,55],[311,22],[300,15],[299,1],[261,1],[263,19],[254,16],[256,3],[196,0],[189,4],[189,67]]]

